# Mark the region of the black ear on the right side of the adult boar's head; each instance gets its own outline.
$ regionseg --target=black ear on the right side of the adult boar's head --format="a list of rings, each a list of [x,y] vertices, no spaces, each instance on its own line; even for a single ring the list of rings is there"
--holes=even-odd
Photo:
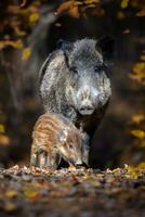
[[[109,64],[115,53],[115,38],[106,36],[96,42],[96,49],[101,49],[104,61]]]

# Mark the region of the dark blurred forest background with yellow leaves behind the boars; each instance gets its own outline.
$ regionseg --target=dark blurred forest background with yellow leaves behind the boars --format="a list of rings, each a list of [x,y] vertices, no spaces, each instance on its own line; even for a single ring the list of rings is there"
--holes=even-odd
[[[32,126],[43,112],[42,62],[56,41],[116,38],[113,97],[96,131],[91,165],[145,162],[145,1],[0,1],[0,167],[29,164]]]

